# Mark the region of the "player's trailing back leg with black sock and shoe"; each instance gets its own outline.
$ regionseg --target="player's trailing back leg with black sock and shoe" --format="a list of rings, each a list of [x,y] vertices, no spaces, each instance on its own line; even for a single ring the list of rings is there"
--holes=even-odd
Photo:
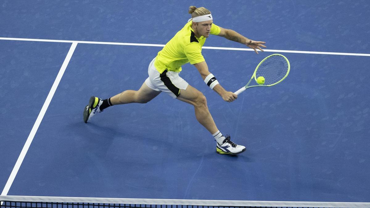
[[[109,105],[104,104],[102,99],[92,96],[89,104],[86,105],[84,109],[84,122],[87,123],[87,121],[90,120],[96,113],[100,113],[107,106],[127,103],[147,103],[153,98],[157,97],[159,93],[161,93],[161,91],[152,90],[147,86],[147,84],[143,83],[139,90],[125,90],[120,94],[106,99],[105,102],[108,102],[109,100]],[[102,105],[106,106],[101,108]]]

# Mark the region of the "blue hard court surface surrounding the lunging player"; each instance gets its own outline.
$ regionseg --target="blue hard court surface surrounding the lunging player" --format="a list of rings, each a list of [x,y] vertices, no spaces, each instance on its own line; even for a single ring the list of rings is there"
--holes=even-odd
[[[232,103],[183,66],[180,76],[206,96],[219,130],[246,151],[216,154],[194,107],[165,93],[84,123],[90,96],[141,86],[191,5],[266,41],[256,54],[207,38],[204,46],[226,49],[202,50],[226,90],[245,85],[270,54],[290,61],[282,83]],[[3,0],[0,19],[3,195],[370,202],[370,1]]]

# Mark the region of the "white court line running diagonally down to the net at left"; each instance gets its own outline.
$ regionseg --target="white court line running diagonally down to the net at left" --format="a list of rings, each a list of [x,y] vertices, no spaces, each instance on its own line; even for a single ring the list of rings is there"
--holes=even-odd
[[[57,87],[59,85],[59,82],[60,82],[60,80],[61,80],[61,78],[62,78],[62,76],[64,74],[65,69],[68,66],[69,61],[71,60],[72,54],[73,54],[76,46],[77,46],[77,42],[72,42],[72,46],[71,46],[70,50],[68,51],[67,57],[65,57],[65,60],[64,60],[62,66],[61,66],[61,68],[59,70],[59,73],[57,75],[57,78],[55,78],[54,84],[53,84],[53,86],[51,87],[51,89],[49,91],[49,94],[48,94],[48,96],[47,96],[47,98],[45,100],[45,103],[44,103],[43,107],[41,108],[40,113],[38,114],[38,117],[36,119],[36,122],[33,125],[30,134],[28,135],[27,141],[26,141],[26,143],[23,146],[23,149],[21,151],[21,154],[19,155],[16,164],[14,165],[13,171],[11,171],[11,174],[10,174],[10,176],[8,178],[8,181],[5,184],[5,187],[3,189],[3,192],[1,192],[1,195],[7,195],[8,194],[9,189],[11,187],[11,184],[13,184],[14,178],[16,177],[16,175],[17,175],[17,173],[19,171],[19,168],[20,168],[20,166],[21,166],[21,164],[23,162],[23,159],[24,159],[24,157],[27,154],[28,148],[31,145],[31,142],[32,142],[32,140],[33,140],[33,138],[34,138],[34,136],[36,134],[36,131],[37,131],[38,127],[40,126],[41,121],[44,118],[44,115],[46,113],[46,110],[49,107],[50,101],[53,98],[55,91],[57,90]]]

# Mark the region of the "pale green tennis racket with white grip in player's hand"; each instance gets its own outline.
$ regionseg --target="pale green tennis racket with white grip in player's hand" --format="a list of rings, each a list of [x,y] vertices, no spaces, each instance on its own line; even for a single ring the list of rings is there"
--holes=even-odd
[[[290,71],[289,60],[281,54],[272,54],[264,58],[258,64],[248,84],[246,84],[244,87],[236,91],[235,94],[238,95],[242,93],[244,90],[251,87],[271,87],[275,84],[279,84],[288,76],[289,71]],[[261,76],[265,78],[265,83],[258,84],[257,78]],[[249,86],[253,79],[256,81],[257,85]]]

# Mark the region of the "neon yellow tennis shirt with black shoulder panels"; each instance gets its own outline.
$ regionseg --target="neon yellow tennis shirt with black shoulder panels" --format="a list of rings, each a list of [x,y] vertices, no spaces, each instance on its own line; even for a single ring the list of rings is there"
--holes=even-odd
[[[164,48],[158,52],[154,61],[154,66],[159,73],[164,70],[180,72],[181,66],[189,63],[196,64],[204,61],[202,56],[202,46],[206,38],[201,36],[197,38],[194,30],[191,28],[192,21],[189,21],[185,26],[176,33],[176,35],[168,41]],[[212,24],[210,34],[218,35],[221,28]]]

